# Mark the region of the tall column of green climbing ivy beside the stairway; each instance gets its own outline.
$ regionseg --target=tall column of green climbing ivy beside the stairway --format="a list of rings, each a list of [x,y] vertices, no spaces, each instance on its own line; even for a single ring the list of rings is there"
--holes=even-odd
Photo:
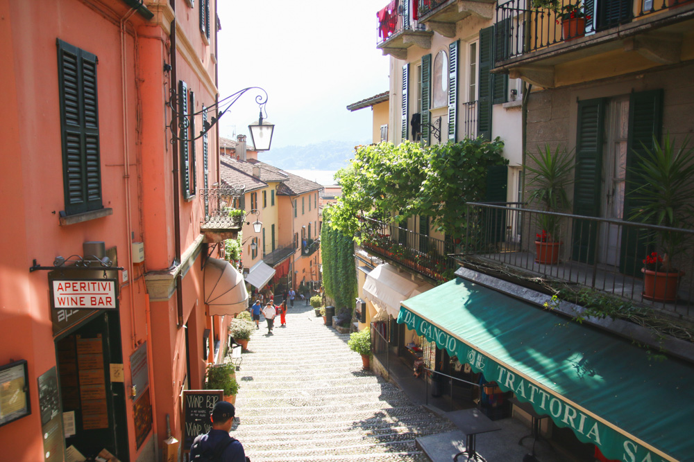
[[[338,310],[351,309],[357,298],[357,271],[354,263],[354,242],[330,226],[333,208],[323,209],[321,259],[325,294],[335,300]]]

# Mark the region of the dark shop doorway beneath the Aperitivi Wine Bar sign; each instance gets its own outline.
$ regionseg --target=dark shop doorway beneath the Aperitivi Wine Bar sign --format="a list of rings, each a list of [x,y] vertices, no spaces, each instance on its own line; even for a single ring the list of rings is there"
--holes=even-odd
[[[74,420],[65,447],[87,457],[105,449],[126,462],[127,398],[124,383],[111,380],[111,365],[123,365],[120,338],[119,314],[100,312],[57,337],[56,355],[63,415]]]

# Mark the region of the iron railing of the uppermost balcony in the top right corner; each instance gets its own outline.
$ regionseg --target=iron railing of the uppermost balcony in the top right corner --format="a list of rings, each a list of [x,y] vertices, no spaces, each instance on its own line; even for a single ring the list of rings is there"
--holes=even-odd
[[[496,7],[496,61],[568,42],[675,8],[689,0],[556,0],[555,8],[530,8],[530,0]],[[581,6],[570,18],[570,8]]]

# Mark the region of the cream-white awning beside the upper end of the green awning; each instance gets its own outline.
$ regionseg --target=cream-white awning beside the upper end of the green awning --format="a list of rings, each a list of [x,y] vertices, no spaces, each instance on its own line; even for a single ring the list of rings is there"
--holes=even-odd
[[[383,263],[366,275],[364,298],[379,310],[386,310],[393,318],[397,318],[400,302],[409,299],[417,287],[417,283],[411,281],[407,273],[400,274],[388,263]]]

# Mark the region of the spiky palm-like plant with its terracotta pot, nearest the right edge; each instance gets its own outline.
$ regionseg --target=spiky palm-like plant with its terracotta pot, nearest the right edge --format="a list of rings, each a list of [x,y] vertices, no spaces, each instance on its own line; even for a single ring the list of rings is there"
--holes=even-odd
[[[694,225],[694,148],[685,138],[679,148],[675,139],[665,136],[663,144],[653,137],[653,149],[643,147],[636,154],[636,164],[629,171],[636,188],[629,198],[638,204],[630,220],[691,229]],[[682,255],[691,242],[684,233],[658,229],[644,234],[651,253],[643,259],[643,298],[654,301],[676,301],[679,279],[684,272],[672,265],[672,256]],[[661,252],[652,251],[654,248]]]

